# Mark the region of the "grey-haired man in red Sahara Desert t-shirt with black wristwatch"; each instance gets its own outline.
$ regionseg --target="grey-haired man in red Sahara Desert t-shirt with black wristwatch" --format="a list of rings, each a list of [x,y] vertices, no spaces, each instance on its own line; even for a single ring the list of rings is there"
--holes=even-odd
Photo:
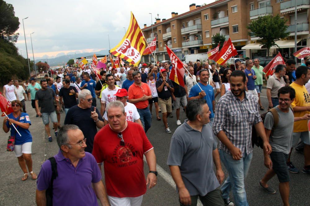
[[[94,155],[100,170],[104,162],[104,176],[111,205],[141,205],[146,185],[157,182],[156,157],[143,128],[126,121],[124,104],[114,101],[107,105],[108,125],[95,136]],[[144,178],[143,154],[149,167]]]

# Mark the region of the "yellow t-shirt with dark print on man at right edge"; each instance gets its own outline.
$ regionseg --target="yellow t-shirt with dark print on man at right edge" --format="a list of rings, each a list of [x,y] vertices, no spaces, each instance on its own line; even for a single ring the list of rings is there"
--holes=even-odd
[[[291,104],[292,107],[306,107],[310,106],[310,95],[308,94],[308,91],[306,87],[303,85],[298,85],[295,82],[290,84],[291,87],[295,90],[295,98],[293,103]],[[302,117],[305,114],[310,114],[309,111],[295,111],[294,117]],[[294,130],[293,132],[306,132],[308,131],[308,120],[300,120],[297,122],[294,122]]]

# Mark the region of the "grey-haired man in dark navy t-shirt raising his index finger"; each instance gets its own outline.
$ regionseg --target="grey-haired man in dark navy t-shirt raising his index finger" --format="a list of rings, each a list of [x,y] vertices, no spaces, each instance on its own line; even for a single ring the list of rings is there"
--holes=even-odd
[[[93,98],[89,90],[81,90],[78,99],[79,104],[69,109],[64,124],[75,124],[82,130],[87,139],[85,151],[91,153],[97,128],[101,129],[104,126],[104,121],[100,111],[91,106]]]

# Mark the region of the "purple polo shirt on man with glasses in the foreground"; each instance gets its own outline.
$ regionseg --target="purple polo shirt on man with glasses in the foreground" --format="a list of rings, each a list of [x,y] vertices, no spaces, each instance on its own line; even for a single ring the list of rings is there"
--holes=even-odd
[[[101,173],[95,158],[88,152],[76,167],[61,151],[55,156],[58,176],[53,182],[53,205],[97,206],[92,183],[101,181]],[[51,184],[51,162],[45,161],[38,174],[37,189],[46,190]]]

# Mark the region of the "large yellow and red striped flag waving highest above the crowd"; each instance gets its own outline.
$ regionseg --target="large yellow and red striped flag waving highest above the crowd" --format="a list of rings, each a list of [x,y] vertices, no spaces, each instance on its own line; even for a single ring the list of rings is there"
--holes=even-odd
[[[110,52],[116,56],[125,59],[132,65],[138,66],[146,45],[143,33],[138,25],[135,16],[131,12],[130,24],[128,30],[116,47]]]

